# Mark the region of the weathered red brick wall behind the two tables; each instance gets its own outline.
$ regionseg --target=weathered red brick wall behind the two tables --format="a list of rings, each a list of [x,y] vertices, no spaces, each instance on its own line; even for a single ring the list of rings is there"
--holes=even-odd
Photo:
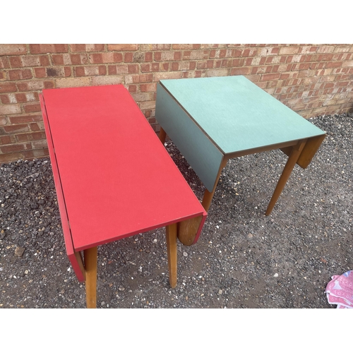
[[[305,118],[353,112],[353,44],[0,44],[0,163],[48,155],[44,88],[122,83],[158,131],[158,80],[229,75]]]

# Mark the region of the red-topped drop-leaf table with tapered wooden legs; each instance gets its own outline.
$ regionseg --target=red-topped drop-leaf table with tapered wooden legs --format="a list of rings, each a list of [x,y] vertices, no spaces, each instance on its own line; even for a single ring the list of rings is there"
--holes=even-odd
[[[66,252],[87,306],[96,306],[97,246],[159,227],[175,287],[177,237],[190,245],[194,219],[194,244],[206,212],[126,88],[43,90],[40,102]]]

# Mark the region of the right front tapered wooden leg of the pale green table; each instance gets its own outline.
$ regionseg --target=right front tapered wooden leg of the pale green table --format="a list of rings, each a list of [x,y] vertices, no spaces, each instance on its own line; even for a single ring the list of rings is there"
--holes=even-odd
[[[305,143],[306,140],[299,141],[299,143],[297,143],[297,145],[292,148],[292,152],[290,153],[285,168],[283,169],[282,175],[278,180],[277,186],[275,188],[275,191],[273,192],[273,196],[270,200],[270,203],[268,204],[268,208],[265,212],[265,215],[270,215],[273,208],[275,207],[275,204],[278,198],[280,197],[282,190],[285,188],[285,184],[287,183],[287,180],[289,179],[289,176],[292,173],[294,165],[297,163],[297,160],[299,158],[301,150],[303,150],[304,148]]]

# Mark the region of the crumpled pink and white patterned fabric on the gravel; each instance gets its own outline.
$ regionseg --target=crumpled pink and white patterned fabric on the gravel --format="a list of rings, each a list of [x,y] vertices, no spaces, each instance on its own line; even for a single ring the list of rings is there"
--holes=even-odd
[[[333,275],[326,286],[325,293],[329,304],[337,309],[353,309],[353,271],[343,275]]]

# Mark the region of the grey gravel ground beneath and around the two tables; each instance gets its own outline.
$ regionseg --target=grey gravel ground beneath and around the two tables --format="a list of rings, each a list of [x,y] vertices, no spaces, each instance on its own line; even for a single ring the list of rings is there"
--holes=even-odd
[[[164,229],[100,246],[98,308],[335,308],[325,286],[353,270],[353,114],[310,121],[328,136],[307,169],[294,167],[270,216],[287,156],[263,152],[225,167],[198,243],[178,245],[177,288]],[[201,181],[166,147],[201,199]],[[0,307],[85,308],[49,158],[2,164],[0,181]]]

